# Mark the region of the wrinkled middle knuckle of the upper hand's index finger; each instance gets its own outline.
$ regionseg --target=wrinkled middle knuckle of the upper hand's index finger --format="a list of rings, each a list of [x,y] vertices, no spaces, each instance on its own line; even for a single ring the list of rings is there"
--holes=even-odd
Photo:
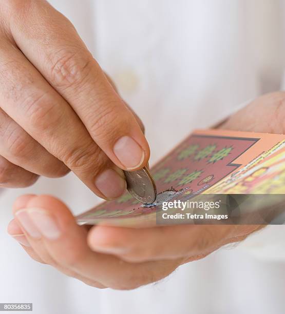
[[[74,52],[75,50],[75,52]],[[74,87],[81,85],[90,73],[92,57],[80,49],[63,48],[49,57],[51,82],[56,87]]]

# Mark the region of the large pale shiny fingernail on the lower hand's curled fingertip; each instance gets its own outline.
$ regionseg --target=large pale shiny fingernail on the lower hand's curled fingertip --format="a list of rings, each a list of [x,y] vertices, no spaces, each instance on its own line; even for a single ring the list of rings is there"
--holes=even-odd
[[[54,218],[44,209],[28,208],[30,219],[41,234],[49,239],[56,240],[61,236],[61,231],[54,221]]]

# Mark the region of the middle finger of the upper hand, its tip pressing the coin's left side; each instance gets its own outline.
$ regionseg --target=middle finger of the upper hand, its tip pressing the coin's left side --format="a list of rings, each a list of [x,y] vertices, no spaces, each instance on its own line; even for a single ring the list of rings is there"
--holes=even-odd
[[[124,173],[107,158],[66,101],[7,40],[0,47],[0,103],[5,112],[96,194],[119,197]]]

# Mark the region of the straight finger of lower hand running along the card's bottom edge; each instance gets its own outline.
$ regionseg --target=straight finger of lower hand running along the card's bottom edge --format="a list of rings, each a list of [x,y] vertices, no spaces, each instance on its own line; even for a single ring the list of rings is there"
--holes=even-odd
[[[177,225],[154,228],[96,226],[90,230],[88,244],[97,252],[116,254],[129,262],[176,259],[197,256],[224,244],[233,227]]]

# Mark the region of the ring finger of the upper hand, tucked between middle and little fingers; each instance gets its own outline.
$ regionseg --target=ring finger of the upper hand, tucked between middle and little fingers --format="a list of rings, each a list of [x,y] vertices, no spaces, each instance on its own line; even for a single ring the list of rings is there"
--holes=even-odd
[[[68,168],[0,109],[0,154],[33,173],[57,177]]]

